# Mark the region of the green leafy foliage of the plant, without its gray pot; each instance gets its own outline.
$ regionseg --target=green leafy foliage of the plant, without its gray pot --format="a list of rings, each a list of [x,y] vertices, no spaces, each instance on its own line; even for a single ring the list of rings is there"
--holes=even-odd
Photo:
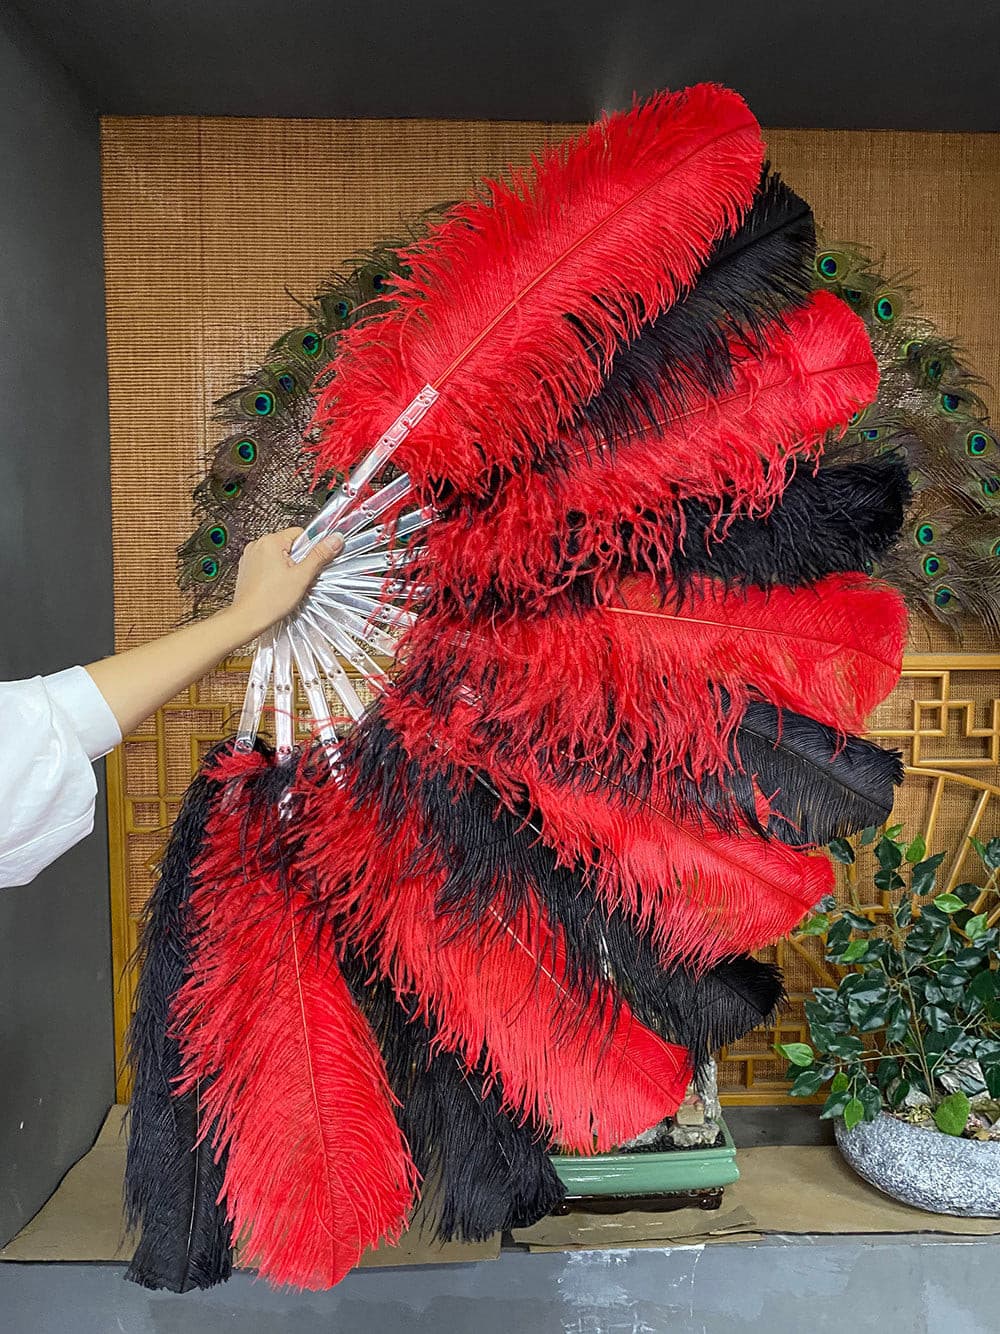
[[[1000,838],[973,839],[973,846],[991,876],[1000,872]],[[857,860],[855,848],[861,850]],[[943,1109],[945,1123],[957,1123],[963,1105],[943,1087],[945,1074],[952,1087],[959,1081],[967,1090],[960,1097],[985,1086],[1000,1099],[1000,928],[989,924],[1000,891],[993,879],[936,894],[948,854],[928,856],[925,836],[907,840],[899,824],[864,830],[851,843],[835,840],[829,850],[857,867],[857,896],[852,907],[824,900],[799,931],[824,940],[839,982],[816,987],[805,1002],[811,1041],[776,1049],[789,1062],[792,1093],[813,1097],[828,1085],[820,1115],[843,1117],[848,1126],[872,1121],[883,1107],[901,1111],[913,1093]],[[893,896],[888,916],[867,907],[872,896],[859,883],[869,858],[875,888]]]

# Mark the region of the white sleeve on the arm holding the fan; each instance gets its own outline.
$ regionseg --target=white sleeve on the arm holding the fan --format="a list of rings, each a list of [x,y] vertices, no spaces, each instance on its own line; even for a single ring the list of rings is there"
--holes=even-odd
[[[0,683],[0,887],[28,884],[91,832],[91,762],[120,740],[83,667]]]

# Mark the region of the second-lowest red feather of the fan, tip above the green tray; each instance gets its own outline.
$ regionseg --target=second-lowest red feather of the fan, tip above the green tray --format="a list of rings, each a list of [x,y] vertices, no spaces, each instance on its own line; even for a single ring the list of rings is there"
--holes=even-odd
[[[460,930],[435,911],[444,872],[421,855],[412,816],[383,840],[371,812],[348,811],[341,794],[320,802],[309,843],[328,906],[399,992],[420,996],[444,1047],[469,1066],[485,1059],[513,1111],[577,1153],[611,1149],[676,1111],[688,1054],[607,992],[568,980],[561,931],[537,902],[512,922],[493,914]]]

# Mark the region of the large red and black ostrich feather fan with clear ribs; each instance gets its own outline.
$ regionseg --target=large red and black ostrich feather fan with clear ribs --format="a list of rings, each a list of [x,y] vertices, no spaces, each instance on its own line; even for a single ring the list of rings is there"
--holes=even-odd
[[[199,604],[276,504],[296,558],[344,550],[151,904],[136,1281],[209,1286],[240,1237],[325,1287],[419,1197],[441,1238],[539,1218],[549,1151],[672,1115],[777,1005],[745,951],[896,775],[848,734],[899,671],[865,568],[909,498],[892,463],[815,480],[877,392],[815,260],[743,101],[657,95],[359,259],[227,402]]]

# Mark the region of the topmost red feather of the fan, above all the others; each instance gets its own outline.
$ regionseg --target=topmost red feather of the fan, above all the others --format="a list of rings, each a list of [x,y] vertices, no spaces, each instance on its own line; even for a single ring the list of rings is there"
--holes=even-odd
[[[419,487],[475,488],[531,458],[733,229],[761,157],[743,100],[703,84],[488,183],[401,252],[395,309],[344,335],[316,407],[317,475],[347,471],[424,386],[440,398],[397,454]]]

